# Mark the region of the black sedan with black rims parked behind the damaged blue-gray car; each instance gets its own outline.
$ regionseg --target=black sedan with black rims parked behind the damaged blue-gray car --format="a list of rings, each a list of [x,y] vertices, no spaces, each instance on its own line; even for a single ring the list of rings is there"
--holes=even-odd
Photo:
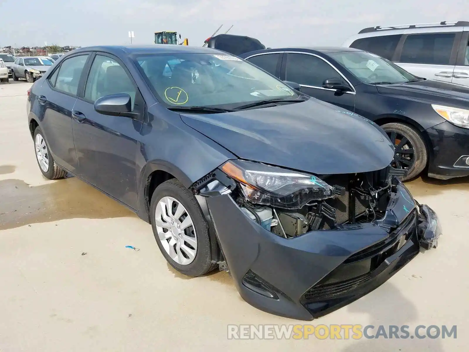
[[[395,145],[393,167],[405,180],[469,175],[469,88],[416,77],[352,48],[281,48],[242,58],[301,91],[380,125]],[[365,136],[363,136],[364,138]]]

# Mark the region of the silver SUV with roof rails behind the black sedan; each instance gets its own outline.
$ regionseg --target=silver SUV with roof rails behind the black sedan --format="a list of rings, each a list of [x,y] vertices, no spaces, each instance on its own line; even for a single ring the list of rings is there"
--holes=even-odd
[[[395,62],[416,76],[469,86],[469,22],[365,28],[342,46]]]

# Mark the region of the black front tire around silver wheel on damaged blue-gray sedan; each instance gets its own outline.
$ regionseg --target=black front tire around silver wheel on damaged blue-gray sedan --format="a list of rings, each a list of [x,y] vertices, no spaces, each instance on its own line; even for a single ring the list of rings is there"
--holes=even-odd
[[[182,265],[174,261],[159,240],[158,231],[155,224],[156,207],[163,197],[172,197],[180,202],[185,208],[192,223],[194,224],[195,236],[197,237],[197,252],[194,260],[187,265]],[[166,258],[167,262],[177,271],[188,276],[200,276],[208,273],[216,267],[211,260],[210,237],[208,234],[208,224],[205,221],[202,210],[191,191],[173,178],[160,184],[151,196],[150,205],[151,227],[159,250]]]

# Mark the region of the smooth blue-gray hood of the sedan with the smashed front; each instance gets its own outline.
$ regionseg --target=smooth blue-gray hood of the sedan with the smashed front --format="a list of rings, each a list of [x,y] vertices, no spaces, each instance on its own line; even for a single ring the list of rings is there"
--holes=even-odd
[[[181,118],[242,159],[315,174],[374,171],[393,159],[393,145],[376,124],[317,99]]]

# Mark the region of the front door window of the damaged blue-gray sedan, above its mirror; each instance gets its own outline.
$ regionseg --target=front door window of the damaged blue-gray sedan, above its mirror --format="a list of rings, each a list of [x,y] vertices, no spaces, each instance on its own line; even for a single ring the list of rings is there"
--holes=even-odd
[[[85,99],[95,102],[106,95],[127,93],[132,99],[132,110],[136,89],[122,66],[107,56],[96,55],[86,81]]]

